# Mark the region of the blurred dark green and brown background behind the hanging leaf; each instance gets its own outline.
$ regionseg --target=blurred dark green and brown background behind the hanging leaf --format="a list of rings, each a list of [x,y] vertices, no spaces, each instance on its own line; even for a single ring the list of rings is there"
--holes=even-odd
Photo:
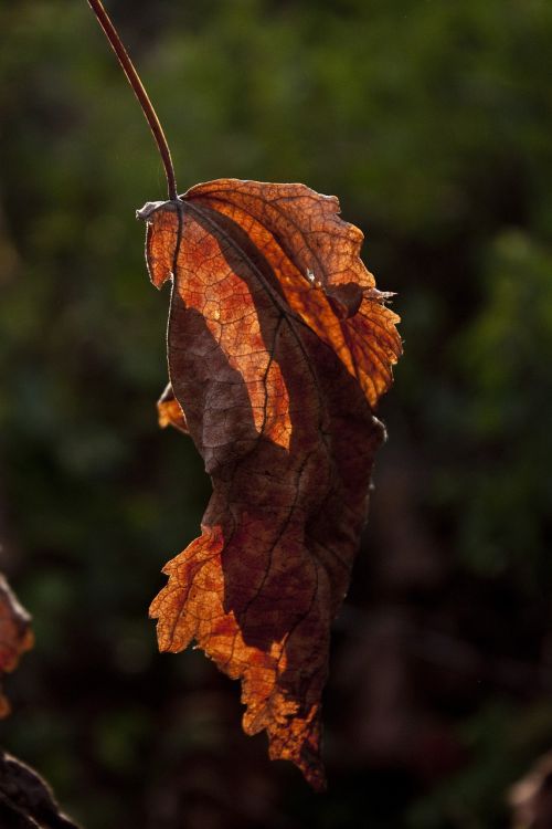
[[[552,748],[552,3],[112,0],[180,190],[340,197],[405,355],[325,696],[328,794],[157,653],[210,485],[157,427],[164,180],[86,2],[0,4],[1,562],[36,646],[0,742],[86,829],[527,829]],[[552,826],[542,823],[542,826]]]

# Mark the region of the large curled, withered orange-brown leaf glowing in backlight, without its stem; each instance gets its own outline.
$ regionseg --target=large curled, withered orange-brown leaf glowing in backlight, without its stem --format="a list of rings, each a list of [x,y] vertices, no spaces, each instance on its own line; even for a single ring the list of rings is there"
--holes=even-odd
[[[146,220],[152,283],[171,280],[162,426],[212,478],[201,536],[164,567],[159,647],[192,640],[241,679],[244,730],[317,789],[330,626],[349,586],[401,353],[361,231],[304,185],[221,179]]]

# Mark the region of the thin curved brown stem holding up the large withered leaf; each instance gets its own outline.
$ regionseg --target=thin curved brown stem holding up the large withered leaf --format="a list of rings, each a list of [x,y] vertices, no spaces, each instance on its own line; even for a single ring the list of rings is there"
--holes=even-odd
[[[172,166],[171,153],[169,149],[169,145],[167,144],[167,138],[164,137],[161,123],[159,118],[157,117],[156,111],[153,109],[153,104],[149,99],[148,93],[146,92],[142,82],[140,81],[140,76],[138,75],[138,72],[136,71],[132,61],[128,56],[127,50],[123,45],[123,42],[119,35],[117,34],[117,30],[112,23],[109,15],[104,9],[100,0],[88,0],[88,4],[92,8],[96,18],[98,19],[99,25],[104,30],[104,33],[107,40],[109,41],[113,51],[117,55],[117,60],[119,61],[119,64],[123,67],[123,71],[125,72],[125,75],[128,78],[128,83],[132,87],[135,95],[140,103],[144,115],[146,116],[149,127],[153,134],[153,138],[156,139],[156,144],[157,144],[159,154],[163,162],[164,175],[167,176],[167,187],[169,191],[169,199],[171,201],[176,201],[178,198],[177,179],[174,177],[174,168]]]

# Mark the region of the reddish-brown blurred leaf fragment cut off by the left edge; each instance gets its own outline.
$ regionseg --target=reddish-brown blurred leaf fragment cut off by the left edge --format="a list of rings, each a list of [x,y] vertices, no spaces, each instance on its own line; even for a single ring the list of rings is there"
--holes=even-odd
[[[33,647],[31,617],[0,574],[0,678],[13,671],[20,657]],[[0,692],[0,717],[10,713],[10,704]]]

